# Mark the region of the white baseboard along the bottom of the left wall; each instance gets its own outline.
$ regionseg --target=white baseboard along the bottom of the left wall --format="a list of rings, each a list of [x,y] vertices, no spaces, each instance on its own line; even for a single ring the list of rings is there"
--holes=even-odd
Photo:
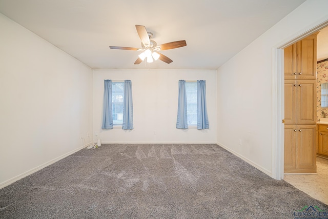
[[[79,151],[79,150],[81,150],[81,149],[89,146],[90,144],[91,144],[91,142],[88,143],[88,144],[86,144],[86,145],[84,145],[84,146],[81,146],[79,148],[76,148],[76,149],[74,149],[74,150],[72,150],[72,151],[70,151],[70,152],[68,152],[66,154],[63,154],[61,156],[58,156],[58,157],[54,158],[53,160],[48,161],[48,162],[46,162],[46,163],[44,163],[44,164],[42,164],[40,166],[37,166],[37,167],[35,167],[33,169],[30,169],[30,170],[28,170],[28,171],[26,171],[26,172],[24,172],[22,174],[19,174],[19,175],[13,177],[13,178],[10,178],[9,180],[7,180],[5,182],[0,183],[0,189],[5,188],[6,186],[9,186],[10,184],[12,184],[12,183],[14,183],[14,182],[16,182],[16,181],[18,181],[18,180],[20,180],[20,179],[28,176],[28,175],[31,175],[32,173],[34,173],[34,172],[36,172],[36,171],[38,171],[40,169],[43,169],[43,168],[45,168],[45,167],[47,167],[47,166],[49,166],[49,165],[51,165],[51,164],[53,164],[53,163],[55,163],[55,162],[63,159],[63,158],[65,158],[65,157],[67,157],[67,156],[69,156],[69,155],[71,155],[71,154],[73,154],[73,153],[75,153],[75,152],[77,152],[77,151]]]

